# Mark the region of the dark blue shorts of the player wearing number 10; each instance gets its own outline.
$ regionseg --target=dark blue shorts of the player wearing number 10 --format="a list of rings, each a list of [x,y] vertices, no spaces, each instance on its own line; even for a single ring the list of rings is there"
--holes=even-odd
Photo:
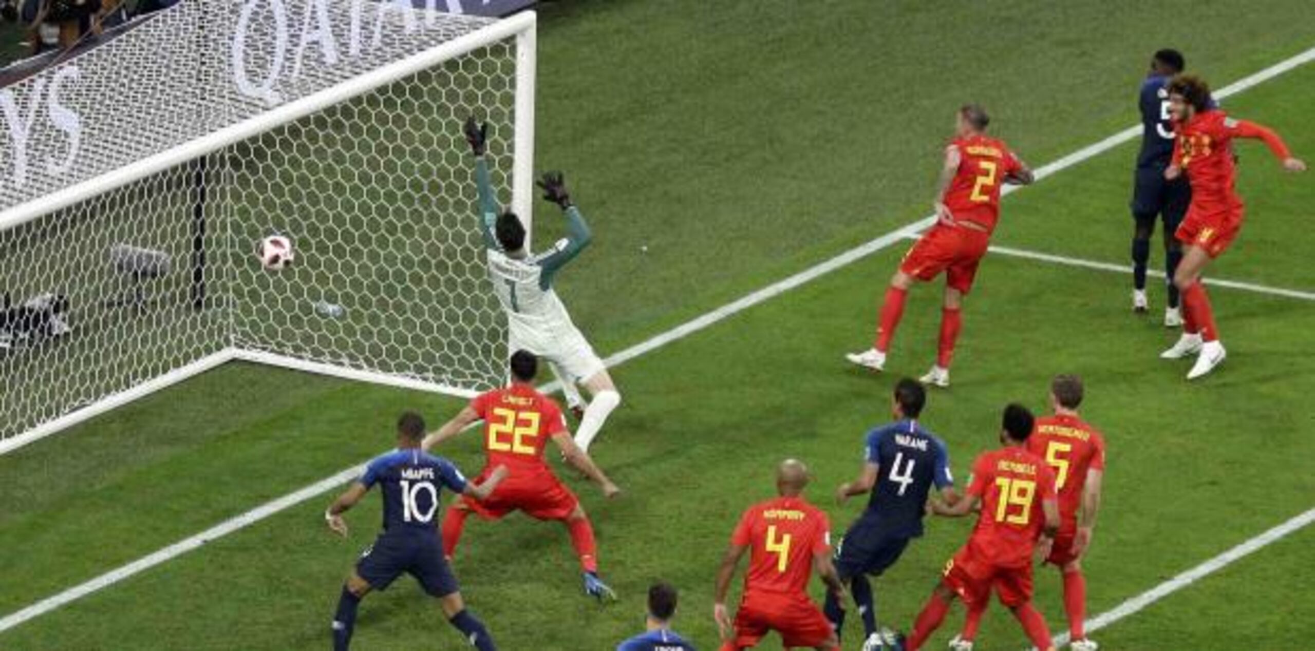
[[[443,559],[443,543],[437,533],[381,534],[356,562],[356,575],[376,591],[387,591],[402,573],[414,576],[419,587],[433,597],[446,597],[459,591],[456,577]]]

